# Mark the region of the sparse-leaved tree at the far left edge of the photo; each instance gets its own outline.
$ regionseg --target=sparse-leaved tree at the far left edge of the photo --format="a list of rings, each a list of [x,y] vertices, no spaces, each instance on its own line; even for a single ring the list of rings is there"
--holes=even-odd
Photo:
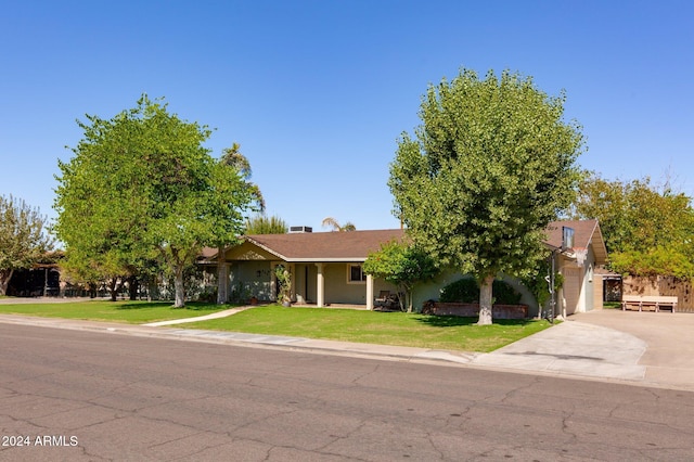
[[[15,270],[30,269],[52,245],[38,208],[0,196],[0,295],[7,294]]]

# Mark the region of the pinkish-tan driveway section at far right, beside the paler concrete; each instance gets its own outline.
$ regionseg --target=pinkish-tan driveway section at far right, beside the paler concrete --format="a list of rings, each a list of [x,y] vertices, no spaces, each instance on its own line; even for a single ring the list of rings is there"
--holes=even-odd
[[[694,315],[603,309],[569,319],[645,342],[646,349],[639,360],[645,367],[644,383],[694,389]]]

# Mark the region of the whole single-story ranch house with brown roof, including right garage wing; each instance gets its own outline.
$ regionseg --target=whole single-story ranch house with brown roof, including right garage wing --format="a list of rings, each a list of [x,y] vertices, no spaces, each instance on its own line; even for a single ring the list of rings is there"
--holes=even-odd
[[[563,242],[568,234],[573,239],[570,246]],[[240,299],[274,300],[278,293],[274,271],[282,265],[293,274],[292,299],[297,304],[363,305],[373,309],[375,294],[396,292],[397,287],[365,274],[362,265],[381,244],[403,239],[404,231],[399,229],[247,235],[240,245],[224,249],[230,293]],[[596,308],[597,294],[602,303],[602,288],[593,286],[594,268],[603,265],[607,256],[597,221],[553,222],[548,227],[545,244],[555,257],[557,271],[564,274],[563,291],[558,294],[562,310],[570,315]],[[206,252],[205,256],[204,264],[217,265],[216,251]],[[448,271],[416,287],[413,306],[437,299],[441,287],[460,278],[462,274]],[[537,316],[534,297],[517,281],[515,285],[524,295],[523,303],[531,307],[530,313]]]

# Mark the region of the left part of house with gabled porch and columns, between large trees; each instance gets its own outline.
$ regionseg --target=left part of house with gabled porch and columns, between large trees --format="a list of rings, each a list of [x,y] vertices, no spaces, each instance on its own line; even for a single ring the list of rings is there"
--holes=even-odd
[[[334,304],[365,305],[373,308],[375,291],[396,291],[385,281],[365,274],[361,267],[382,243],[404,238],[402,230],[349,232],[291,232],[244,236],[229,247],[224,260],[230,274],[230,293],[237,298],[274,300],[278,293],[275,268],[283,265],[292,273],[292,299],[297,304],[324,307]],[[217,255],[206,260],[216,264]]]

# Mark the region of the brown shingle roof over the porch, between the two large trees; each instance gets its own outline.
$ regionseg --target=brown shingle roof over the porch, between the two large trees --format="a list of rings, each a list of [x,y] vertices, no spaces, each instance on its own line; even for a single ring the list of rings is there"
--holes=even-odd
[[[372,230],[254,234],[245,240],[277,255],[284,261],[364,261],[381,244],[401,240],[404,231]]]

